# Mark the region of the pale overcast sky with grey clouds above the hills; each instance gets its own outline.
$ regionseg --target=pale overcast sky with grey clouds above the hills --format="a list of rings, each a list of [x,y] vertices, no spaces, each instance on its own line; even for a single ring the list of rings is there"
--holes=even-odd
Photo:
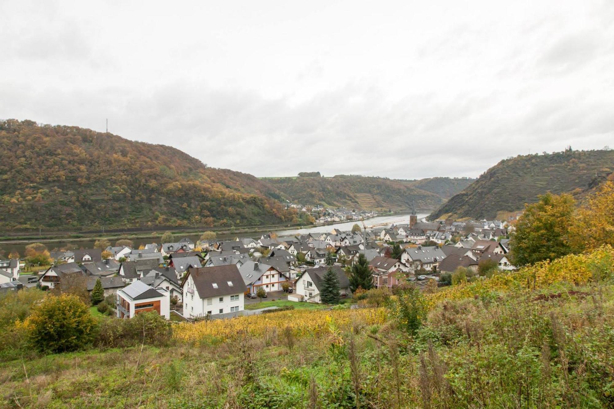
[[[256,176],[614,147],[614,2],[0,1],[0,118]]]

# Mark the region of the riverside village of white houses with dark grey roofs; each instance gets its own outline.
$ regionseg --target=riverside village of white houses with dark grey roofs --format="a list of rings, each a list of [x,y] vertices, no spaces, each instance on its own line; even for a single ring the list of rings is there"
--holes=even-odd
[[[335,221],[361,222],[349,231],[297,236],[217,240],[208,232],[194,242],[167,233],[163,243],[140,248],[119,240],[104,248],[51,251],[52,265],[34,275],[9,258],[0,260],[0,291],[81,292],[99,311],[119,318],[155,311],[166,319],[198,321],[278,309],[258,308],[263,298],[323,303],[327,273],[335,276],[338,298],[352,303],[352,294],[363,290],[352,288],[352,269],[368,271],[365,287],[426,290],[451,284],[454,274],[470,276],[480,266],[515,268],[507,257],[513,230],[507,221],[427,222],[413,211],[406,224],[367,228],[362,220],[373,213],[325,213]]]

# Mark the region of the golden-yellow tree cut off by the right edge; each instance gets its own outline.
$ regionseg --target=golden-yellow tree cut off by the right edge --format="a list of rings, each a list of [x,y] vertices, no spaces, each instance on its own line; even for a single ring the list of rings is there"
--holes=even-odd
[[[614,182],[601,185],[578,210],[569,236],[577,252],[592,251],[604,244],[614,246]]]

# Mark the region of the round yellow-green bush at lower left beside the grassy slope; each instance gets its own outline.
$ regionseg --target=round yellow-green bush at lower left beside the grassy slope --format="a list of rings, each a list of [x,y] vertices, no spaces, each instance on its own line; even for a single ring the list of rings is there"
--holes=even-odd
[[[96,321],[76,295],[45,297],[32,310],[26,324],[29,338],[39,351],[76,351],[93,340]]]

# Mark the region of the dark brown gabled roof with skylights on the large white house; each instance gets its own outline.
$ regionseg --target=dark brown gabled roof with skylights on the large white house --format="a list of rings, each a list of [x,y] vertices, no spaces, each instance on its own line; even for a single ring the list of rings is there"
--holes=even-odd
[[[196,291],[200,298],[217,297],[246,292],[247,287],[243,276],[236,265],[220,265],[216,267],[190,268],[184,277],[181,286],[185,285],[188,277],[192,277]]]

